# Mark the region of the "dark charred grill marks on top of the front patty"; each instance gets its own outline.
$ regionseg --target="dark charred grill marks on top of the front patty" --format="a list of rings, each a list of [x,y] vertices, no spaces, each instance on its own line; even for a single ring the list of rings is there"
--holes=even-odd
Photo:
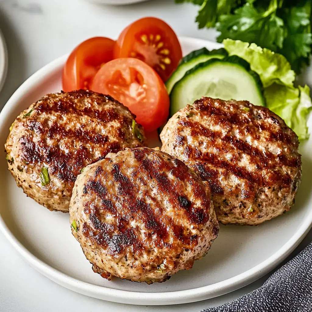
[[[133,153],[134,158],[136,160],[139,160],[138,164],[134,163],[132,165],[135,174],[134,175],[131,174],[131,179],[137,178],[139,180],[140,177],[145,177],[146,176],[145,172],[147,171],[142,170],[144,166],[149,169],[148,171],[149,173],[152,171],[152,176],[154,178],[157,172],[155,166],[159,164],[160,161],[163,160],[154,159],[153,162],[149,162],[149,159],[146,159],[147,154],[149,153],[149,149],[146,150],[132,149],[131,152]],[[115,161],[117,161],[117,159],[115,159]],[[107,163],[109,163],[108,159]],[[184,183],[188,183],[187,181],[191,181],[191,176],[187,174],[187,167],[181,161],[179,160],[176,160],[174,162],[166,161],[166,164],[163,166],[163,168],[164,170],[173,169],[172,174],[173,176],[175,176],[175,173],[180,172],[181,165],[185,167],[185,170],[183,171],[185,171],[186,173],[183,172],[182,175],[180,174],[180,177],[178,179],[183,180]],[[101,187],[99,187],[101,174],[103,175],[102,172],[101,174],[98,175],[94,174],[93,177],[89,178],[87,183],[85,183],[84,185],[83,193],[85,194],[89,193],[90,195],[94,193],[96,197],[100,198],[102,194],[105,193],[105,199],[111,202],[114,197],[114,189],[117,188],[117,191],[120,196],[119,199],[117,199],[117,201],[119,202],[119,207],[122,207],[122,210],[120,210],[120,208],[117,209],[117,207],[114,206],[116,209],[115,222],[117,223],[114,232],[117,232],[117,234],[111,237],[112,235],[111,228],[107,229],[106,225],[103,225],[102,227],[99,224],[100,216],[95,218],[95,216],[97,215],[92,214],[95,213],[94,202],[96,202],[95,199],[96,197],[93,197],[94,199],[92,199],[90,202],[85,202],[84,209],[85,213],[89,213],[89,220],[93,229],[88,225],[87,222],[84,223],[83,224],[84,236],[89,237],[92,241],[95,241],[99,245],[107,247],[109,249],[110,254],[112,255],[116,255],[117,253],[122,252],[125,247],[130,245],[134,252],[143,250],[145,249],[145,246],[149,245],[146,244],[146,242],[144,243],[144,241],[148,240],[153,241],[155,246],[158,247],[166,246],[167,248],[170,247],[177,253],[181,252],[183,246],[184,247],[189,246],[189,248],[193,248],[194,246],[197,245],[198,237],[196,235],[194,236],[190,235],[189,233],[184,233],[183,227],[176,223],[177,220],[173,220],[165,212],[162,212],[161,210],[157,209],[159,199],[151,197],[151,194],[149,194],[146,190],[144,190],[144,193],[142,195],[140,194],[140,197],[136,195],[138,194],[138,189],[136,188],[135,183],[131,182],[128,176],[124,175],[121,171],[121,168],[123,168],[122,161],[114,163],[112,167],[113,168],[109,174],[113,178],[113,180],[118,183],[118,185],[115,184],[115,186],[112,186],[112,189],[110,191],[106,190],[104,192],[101,189]],[[104,169],[105,165],[102,165],[101,168],[105,171]],[[138,174],[140,174],[140,176],[138,176]],[[107,179],[109,178],[110,177],[108,176]],[[167,185],[168,189],[168,185],[170,185],[170,183],[166,181],[166,177],[161,176],[158,177],[157,179],[158,180],[154,178],[154,181],[156,181],[157,183],[159,183],[159,185],[162,185],[164,187]],[[186,182],[185,179],[187,179]],[[210,209],[210,200],[207,200],[206,192],[203,186],[200,186],[199,183],[193,184],[195,184],[193,185],[194,196],[198,195],[201,196],[200,199],[204,203],[207,212],[203,212],[203,209],[198,209],[197,211],[191,211],[190,214],[193,213],[193,219],[197,222],[197,223],[195,222],[196,224],[205,224],[209,220],[208,213]],[[157,185],[157,187],[159,186]],[[170,194],[169,192],[172,191],[173,188],[174,186],[169,187],[169,191],[163,189],[164,193],[167,193],[168,200],[170,200],[170,197],[172,197],[172,194]],[[142,198],[149,198],[150,203],[144,202]],[[176,198],[176,202],[185,211],[187,211],[187,209],[190,210],[192,207],[191,202],[182,195]],[[100,208],[98,207],[97,209],[98,210],[100,209],[101,214],[105,214],[105,207],[103,209],[102,208],[103,206],[101,206]],[[140,229],[131,226],[132,221],[137,221],[137,223],[139,224],[144,224],[144,227],[146,228],[146,236],[142,237],[144,241],[142,241],[139,238],[141,236]],[[175,237],[176,240],[172,242],[171,240],[168,241],[167,237],[169,238],[169,235],[170,236],[173,235],[173,237]],[[127,239],[125,239],[125,237]],[[184,245],[181,246],[181,243],[183,243]],[[111,247],[110,244],[113,244],[113,247]]]

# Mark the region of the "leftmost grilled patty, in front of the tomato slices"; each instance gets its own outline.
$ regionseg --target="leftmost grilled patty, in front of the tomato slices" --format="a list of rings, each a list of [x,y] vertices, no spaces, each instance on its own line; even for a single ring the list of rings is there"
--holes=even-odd
[[[76,177],[86,165],[144,145],[143,129],[135,124],[133,131],[133,119],[128,108],[107,95],[85,90],[48,94],[12,124],[5,144],[9,170],[29,197],[50,210],[68,212]],[[41,170],[49,175],[46,185]]]

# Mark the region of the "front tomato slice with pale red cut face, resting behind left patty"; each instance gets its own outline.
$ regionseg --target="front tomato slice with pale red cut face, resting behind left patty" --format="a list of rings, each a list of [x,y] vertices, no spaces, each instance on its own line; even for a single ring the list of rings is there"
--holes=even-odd
[[[146,132],[163,125],[169,115],[169,96],[158,74],[135,58],[106,63],[93,79],[91,89],[109,94],[134,113]]]

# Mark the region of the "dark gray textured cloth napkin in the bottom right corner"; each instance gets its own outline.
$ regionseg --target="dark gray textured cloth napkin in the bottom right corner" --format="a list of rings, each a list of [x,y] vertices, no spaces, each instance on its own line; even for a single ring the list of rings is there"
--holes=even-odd
[[[276,271],[259,289],[202,312],[311,312],[312,243]]]

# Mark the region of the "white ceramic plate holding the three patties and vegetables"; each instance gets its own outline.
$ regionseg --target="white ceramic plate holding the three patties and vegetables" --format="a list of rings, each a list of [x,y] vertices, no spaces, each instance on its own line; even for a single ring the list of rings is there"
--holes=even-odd
[[[219,44],[180,38],[184,54]],[[12,95],[0,114],[1,146],[16,116],[49,92],[61,90],[63,56],[31,76]],[[311,121],[311,120],[310,120]],[[278,265],[299,244],[312,223],[312,136],[300,146],[303,180],[290,212],[256,227],[221,226],[211,250],[193,269],[165,283],[107,281],[93,273],[79,243],[71,235],[68,214],[50,212],[26,197],[0,154],[0,228],[36,270],[71,290],[91,297],[138,305],[166,305],[223,295],[257,280]],[[22,261],[22,260],[21,260]]]

